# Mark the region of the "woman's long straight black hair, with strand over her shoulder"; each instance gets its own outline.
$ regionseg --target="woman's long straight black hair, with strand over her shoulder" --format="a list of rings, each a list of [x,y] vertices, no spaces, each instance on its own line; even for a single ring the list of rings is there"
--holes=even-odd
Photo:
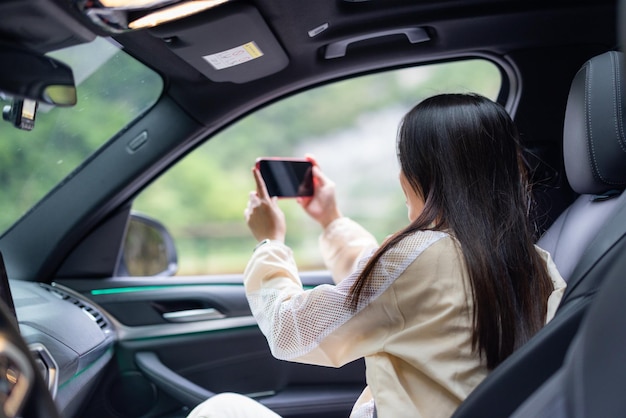
[[[545,323],[553,290],[534,247],[531,193],[519,134],[506,110],[474,94],[428,98],[403,118],[402,173],[425,207],[370,259],[350,293],[356,309],[376,262],[418,230],[460,244],[474,302],[472,344],[492,369]]]

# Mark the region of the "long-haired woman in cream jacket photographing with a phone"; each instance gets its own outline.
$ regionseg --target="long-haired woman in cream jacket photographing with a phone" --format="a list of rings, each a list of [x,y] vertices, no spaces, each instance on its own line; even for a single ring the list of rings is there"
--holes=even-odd
[[[373,252],[375,239],[341,215],[334,184],[314,167],[315,194],[300,204],[324,229],[337,284],[307,291],[284,215],[253,170],[245,214],[260,243],[244,282],[277,358],[335,367],[365,358],[368,387],[352,417],[445,417],[552,317],[565,283],[533,244],[518,133],[501,106],[431,97],[404,117],[397,148],[410,223]],[[212,400],[196,416],[211,416]],[[250,403],[241,408],[250,415],[232,416],[260,416]]]

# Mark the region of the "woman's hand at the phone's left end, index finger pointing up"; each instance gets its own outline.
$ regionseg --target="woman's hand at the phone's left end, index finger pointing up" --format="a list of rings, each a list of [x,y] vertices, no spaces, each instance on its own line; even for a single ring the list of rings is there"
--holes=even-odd
[[[256,191],[250,192],[248,207],[244,211],[248,228],[257,241],[271,239],[284,242],[287,233],[285,214],[278,207],[277,198],[270,197],[261,172],[252,169]]]

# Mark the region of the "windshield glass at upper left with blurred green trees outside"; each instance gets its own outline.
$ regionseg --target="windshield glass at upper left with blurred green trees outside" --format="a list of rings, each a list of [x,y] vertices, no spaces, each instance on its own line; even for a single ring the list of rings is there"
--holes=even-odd
[[[78,103],[40,104],[32,131],[0,121],[1,233],[150,108],[163,89],[158,74],[104,38],[49,55],[72,68]],[[10,105],[0,95],[0,106]]]

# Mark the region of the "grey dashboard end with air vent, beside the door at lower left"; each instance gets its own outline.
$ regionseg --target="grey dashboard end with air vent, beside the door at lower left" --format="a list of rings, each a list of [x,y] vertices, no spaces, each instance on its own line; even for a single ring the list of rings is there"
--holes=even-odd
[[[22,337],[62,416],[73,416],[113,357],[102,309],[61,285],[9,281]]]

